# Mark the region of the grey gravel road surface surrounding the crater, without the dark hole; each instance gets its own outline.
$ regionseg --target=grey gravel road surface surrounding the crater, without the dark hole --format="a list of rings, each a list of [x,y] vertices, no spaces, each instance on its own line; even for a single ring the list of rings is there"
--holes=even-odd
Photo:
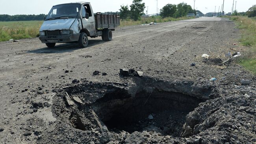
[[[120,27],[113,32],[112,41],[89,38],[87,48],[80,48],[75,43],[47,48],[38,38],[17,43],[0,42],[0,143],[255,142],[256,77],[235,63],[222,66],[214,63],[218,58],[227,60],[224,55],[229,51],[237,50],[243,54],[247,48],[234,45],[238,43],[237,38],[239,30],[233,22],[208,17]],[[204,60],[202,54],[209,54],[210,59]],[[181,123],[184,127],[180,128],[181,135],[161,135],[152,129],[134,133],[100,131],[93,127],[93,122],[92,130],[72,127],[72,117],[68,115],[72,115],[69,111],[75,111],[75,108],[65,106],[65,99],[59,98],[61,90],[86,83],[134,85],[133,77],[119,75],[121,68],[139,70],[143,77],[153,79],[152,83],[163,82],[162,86],[180,82],[198,87],[193,90],[198,89],[195,95],[203,103],[186,113],[184,123]],[[95,76],[93,72],[96,70],[100,73]],[[217,81],[210,82],[213,77]],[[241,85],[241,79],[249,79],[252,83]],[[200,91],[205,87],[209,94]],[[102,86],[102,91],[104,88]],[[175,90],[191,96],[195,93],[186,86]],[[96,92],[90,91],[90,94],[94,97]],[[78,97],[85,103],[86,98]],[[93,102],[88,100],[87,104]],[[58,109],[56,105],[61,104]],[[58,112],[60,108],[63,111]]]

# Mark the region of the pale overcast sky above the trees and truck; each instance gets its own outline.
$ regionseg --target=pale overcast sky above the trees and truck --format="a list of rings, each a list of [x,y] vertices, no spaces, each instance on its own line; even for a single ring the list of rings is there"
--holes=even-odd
[[[0,14],[48,14],[51,7],[57,4],[77,2],[80,0],[0,0]],[[236,0],[235,0],[236,1]],[[132,0],[88,0],[91,2],[93,12],[119,11],[120,5],[130,5]],[[148,14],[156,13],[156,0],[143,0],[145,6],[148,6]],[[194,7],[194,0],[158,0],[159,10],[166,4],[179,4],[186,2]],[[235,9],[234,2],[234,9]],[[223,4],[223,0],[195,0],[195,9],[202,13],[214,12],[219,10],[219,6]],[[233,0],[224,1],[225,13],[231,12]],[[252,5],[256,4],[256,0],[237,0],[236,9],[238,12],[247,11]],[[207,9],[206,9],[207,8]],[[147,8],[145,9],[146,13]]]

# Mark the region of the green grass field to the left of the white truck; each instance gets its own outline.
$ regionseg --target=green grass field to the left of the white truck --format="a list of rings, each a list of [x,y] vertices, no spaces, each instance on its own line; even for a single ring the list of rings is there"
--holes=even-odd
[[[43,21],[0,22],[0,41],[39,36]]]

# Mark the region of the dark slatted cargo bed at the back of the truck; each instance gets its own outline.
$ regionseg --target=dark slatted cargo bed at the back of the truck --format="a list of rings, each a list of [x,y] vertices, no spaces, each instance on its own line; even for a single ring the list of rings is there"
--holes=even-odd
[[[120,17],[117,14],[96,13],[94,16],[97,29],[115,29],[120,25]]]

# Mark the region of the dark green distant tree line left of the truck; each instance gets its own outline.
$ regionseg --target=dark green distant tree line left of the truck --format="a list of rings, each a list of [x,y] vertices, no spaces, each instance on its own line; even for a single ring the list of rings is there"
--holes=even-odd
[[[8,14],[0,14],[0,21],[2,22],[10,22],[10,21],[30,21],[30,20],[44,20],[44,17],[47,15],[45,14],[30,14],[30,15],[25,15],[25,14],[18,14],[18,15],[13,15],[10,16]]]

